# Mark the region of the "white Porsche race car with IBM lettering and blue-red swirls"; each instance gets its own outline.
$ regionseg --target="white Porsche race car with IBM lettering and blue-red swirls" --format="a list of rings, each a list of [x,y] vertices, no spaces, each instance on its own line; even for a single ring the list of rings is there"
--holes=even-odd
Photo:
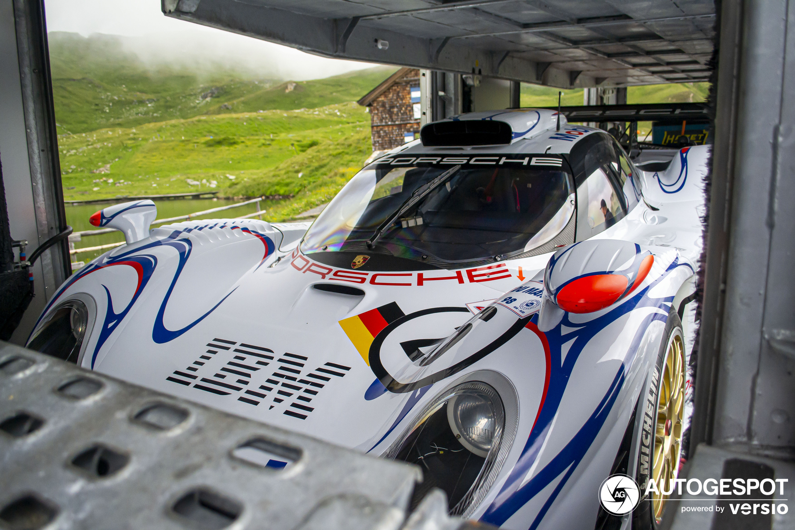
[[[151,201],[107,207],[92,222],[126,245],[60,287],[29,347],[417,464],[414,503],[436,487],[504,528],[656,528],[708,149],[646,172],[552,110],[473,113],[367,165],[311,226],[149,230]],[[613,474],[634,512],[600,503]]]

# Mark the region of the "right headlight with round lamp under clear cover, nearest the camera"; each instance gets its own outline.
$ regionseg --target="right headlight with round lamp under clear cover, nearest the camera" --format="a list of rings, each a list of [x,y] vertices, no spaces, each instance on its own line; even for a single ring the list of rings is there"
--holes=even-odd
[[[385,456],[422,467],[413,504],[436,487],[447,493],[451,513],[464,514],[491,483],[505,424],[497,391],[467,381],[432,400]]]

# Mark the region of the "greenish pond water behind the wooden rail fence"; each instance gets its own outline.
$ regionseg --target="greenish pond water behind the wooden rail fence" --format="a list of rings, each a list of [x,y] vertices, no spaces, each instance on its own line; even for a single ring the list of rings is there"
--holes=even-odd
[[[178,215],[188,215],[192,214],[195,211],[204,211],[210,210],[211,208],[217,208],[222,206],[227,206],[230,204],[242,203],[245,202],[243,200],[235,200],[235,199],[174,199],[174,200],[156,200],[154,201],[155,205],[157,205],[157,219],[167,219],[169,217],[176,217]],[[271,204],[275,203],[275,201],[267,201],[263,200],[260,204],[260,210],[267,210]],[[72,226],[75,232],[80,232],[81,230],[96,230],[96,226],[91,226],[91,223],[88,222],[88,218],[91,217],[95,211],[99,211],[103,208],[107,208],[111,206],[110,203],[101,203],[101,204],[79,204],[79,205],[66,205],[66,222],[69,226]],[[246,204],[245,206],[230,208],[228,210],[223,211],[216,211],[215,213],[211,213],[208,215],[201,215],[200,217],[192,218],[192,219],[230,219],[239,217],[241,215],[253,214],[257,209],[257,203],[250,203]],[[254,218],[256,219],[256,218]],[[263,219],[265,216],[263,215]],[[184,220],[184,219],[183,219]],[[180,221],[173,221],[173,222],[180,222]],[[156,224],[152,225],[153,227],[158,226]],[[84,249],[90,246],[100,246],[100,245],[107,245],[109,243],[116,243],[124,241],[124,235],[121,232],[111,232],[110,234],[100,234],[100,235],[92,235],[92,236],[85,236],[80,239],[80,241],[75,242],[75,249]],[[80,262],[83,261],[84,263],[88,263],[95,257],[106,253],[110,249],[103,249],[103,250],[94,250],[89,252],[83,253],[74,253],[72,254],[72,262]],[[79,269],[80,266],[76,266],[73,269]]]

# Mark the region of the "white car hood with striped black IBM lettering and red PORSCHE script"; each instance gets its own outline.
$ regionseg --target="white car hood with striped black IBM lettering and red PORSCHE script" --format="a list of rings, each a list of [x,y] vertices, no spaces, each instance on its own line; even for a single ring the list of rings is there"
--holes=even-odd
[[[437,363],[418,369],[409,355],[452,335],[473,312],[521,283],[505,264],[362,273],[322,265],[297,250],[249,269],[235,284],[223,284],[228,275],[217,257],[196,253],[172,283],[173,250],[156,251],[164,278],[149,282],[94,369],[363,451],[432,389],[386,390],[370,366],[378,332],[409,315],[387,339],[389,352],[378,364],[401,381],[442,370],[436,386],[445,385],[455,370],[444,373],[448,366]],[[107,285],[111,295],[125,288]]]

